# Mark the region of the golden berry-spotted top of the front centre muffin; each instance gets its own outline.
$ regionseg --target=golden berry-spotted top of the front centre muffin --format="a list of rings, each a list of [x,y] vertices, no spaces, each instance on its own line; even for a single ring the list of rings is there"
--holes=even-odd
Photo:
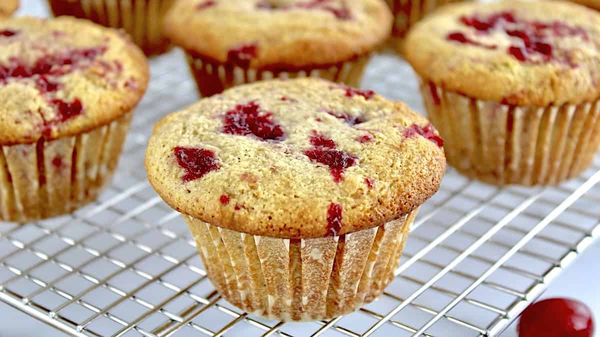
[[[403,103],[320,79],[238,86],[154,127],[148,178],[173,209],[261,236],[376,227],[439,188],[443,140]]]

